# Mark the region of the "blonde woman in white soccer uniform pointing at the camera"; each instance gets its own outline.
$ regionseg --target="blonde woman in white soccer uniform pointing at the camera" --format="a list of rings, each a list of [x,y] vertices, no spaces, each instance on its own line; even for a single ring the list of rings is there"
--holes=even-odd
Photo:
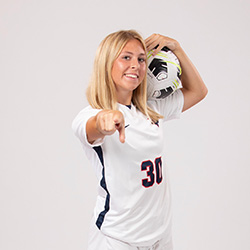
[[[146,51],[167,46],[183,88],[147,102]],[[207,89],[179,43],[118,31],[100,44],[87,97],[73,130],[94,166],[98,197],[88,250],[172,249],[171,201],[163,159],[163,122],[202,100]]]

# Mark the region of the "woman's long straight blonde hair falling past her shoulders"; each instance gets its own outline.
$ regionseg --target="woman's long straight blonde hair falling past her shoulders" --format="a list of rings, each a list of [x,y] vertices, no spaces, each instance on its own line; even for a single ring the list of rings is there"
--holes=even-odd
[[[134,30],[121,30],[108,35],[99,45],[92,77],[87,88],[87,99],[89,104],[96,109],[117,109],[117,98],[115,83],[111,76],[113,63],[121,53],[128,41],[138,40],[143,49],[146,46],[141,35]],[[163,118],[147,106],[147,78],[133,91],[132,103],[144,115],[153,122]]]

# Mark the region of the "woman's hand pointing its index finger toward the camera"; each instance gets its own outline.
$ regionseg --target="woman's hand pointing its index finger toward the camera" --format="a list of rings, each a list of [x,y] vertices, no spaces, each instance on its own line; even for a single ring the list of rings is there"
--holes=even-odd
[[[102,110],[96,115],[96,128],[103,135],[112,135],[117,130],[121,143],[125,142],[125,121],[118,110]]]

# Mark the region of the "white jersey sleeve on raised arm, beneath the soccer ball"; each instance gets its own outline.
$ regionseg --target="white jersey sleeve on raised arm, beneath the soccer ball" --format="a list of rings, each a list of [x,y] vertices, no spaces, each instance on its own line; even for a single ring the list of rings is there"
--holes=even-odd
[[[164,116],[163,121],[180,118],[184,105],[184,96],[180,89],[165,99],[148,101],[148,106]]]

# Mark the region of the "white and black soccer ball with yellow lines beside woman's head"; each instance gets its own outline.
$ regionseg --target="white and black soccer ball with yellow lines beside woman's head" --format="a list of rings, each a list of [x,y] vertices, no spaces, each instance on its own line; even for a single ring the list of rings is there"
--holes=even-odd
[[[147,92],[148,100],[164,99],[181,87],[181,67],[178,58],[167,47],[152,56],[147,55]]]

